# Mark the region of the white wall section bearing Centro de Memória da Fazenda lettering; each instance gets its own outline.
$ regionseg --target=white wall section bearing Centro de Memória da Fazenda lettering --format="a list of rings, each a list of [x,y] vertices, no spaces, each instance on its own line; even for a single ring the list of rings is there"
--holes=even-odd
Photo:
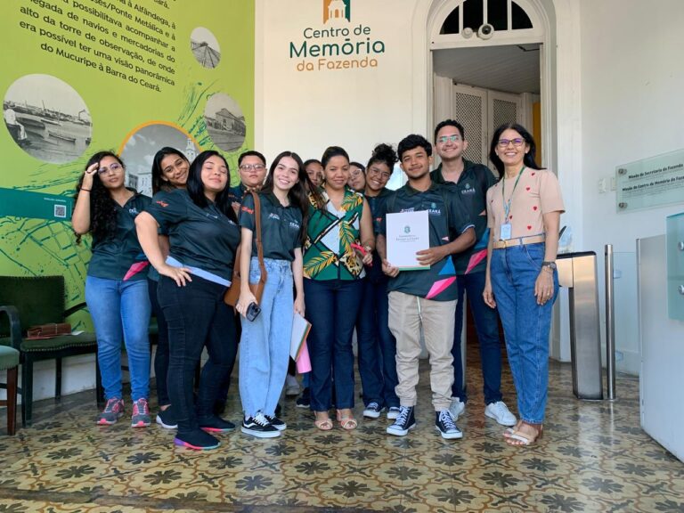
[[[396,144],[411,133],[411,20],[416,0],[353,1],[351,22],[323,24],[322,1],[256,2],[256,148],[273,159],[297,151],[302,159],[320,159],[339,145],[365,163],[379,142]],[[289,44],[305,40],[305,28],[369,27],[369,36],[352,43],[382,41],[385,53],[373,55],[377,68],[297,71]],[[310,44],[345,43],[345,37],[308,39]],[[356,59],[340,56],[338,60]],[[427,109],[427,107],[426,107]]]

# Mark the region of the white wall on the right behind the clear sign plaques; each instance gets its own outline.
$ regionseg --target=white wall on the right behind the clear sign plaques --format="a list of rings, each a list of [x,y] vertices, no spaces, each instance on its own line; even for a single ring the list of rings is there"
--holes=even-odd
[[[582,224],[585,250],[603,261],[612,243],[623,278],[615,281],[618,369],[639,373],[635,240],[665,231],[678,205],[615,212],[615,191],[599,193],[599,178],[615,167],[684,148],[684,2],[582,0]],[[558,142],[559,144],[561,142]],[[599,282],[603,268],[599,266]],[[603,312],[601,312],[603,316]]]

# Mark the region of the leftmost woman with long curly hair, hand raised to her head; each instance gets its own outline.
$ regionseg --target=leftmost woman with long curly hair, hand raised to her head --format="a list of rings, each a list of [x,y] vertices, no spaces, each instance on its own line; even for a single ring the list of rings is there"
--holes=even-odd
[[[92,236],[93,256],[85,277],[85,303],[97,337],[104,410],[97,424],[109,426],[124,414],[121,342],[126,344],[131,377],[131,427],[150,425],[150,298],[147,258],[135,232],[136,216],[150,198],[126,187],[126,167],[111,151],[98,151],[78,179],[71,225],[77,244]]]

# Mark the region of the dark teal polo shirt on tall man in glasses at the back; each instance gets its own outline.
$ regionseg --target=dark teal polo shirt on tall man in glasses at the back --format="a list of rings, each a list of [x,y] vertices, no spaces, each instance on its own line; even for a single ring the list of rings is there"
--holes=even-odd
[[[458,183],[444,180],[441,164],[430,173],[430,177],[434,183],[443,185],[450,194],[460,198],[468,210],[470,220],[475,225],[475,246],[453,256],[456,273],[484,273],[487,266],[487,242],[489,240],[486,213],[487,189],[496,183],[492,170],[484,164],[476,164],[463,159],[463,172],[459,176]],[[484,216],[480,216],[482,212],[485,212]]]

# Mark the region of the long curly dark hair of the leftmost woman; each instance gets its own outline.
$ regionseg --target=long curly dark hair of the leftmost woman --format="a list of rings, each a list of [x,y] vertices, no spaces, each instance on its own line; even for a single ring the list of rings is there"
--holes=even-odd
[[[121,167],[126,170],[124,161],[116,153],[113,151],[98,151],[85,163],[84,171],[106,157],[116,159],[121,164]],[[76,195],[74,196],[75,202],[78,200],[78,193],[81,191],[81,187],[83,187],[84,176],[85,173],[78,179]],[[106,240],[113,237],[117,231],[117,203],[111,197],[109,189],[100,180],[100,174],[97,171],[93,175],[93,185],[88,196],[90,200],[90,229],[88,232],[94,239],[98,240]],[[76,233],[76,243],[81,243],[80,233]]]

